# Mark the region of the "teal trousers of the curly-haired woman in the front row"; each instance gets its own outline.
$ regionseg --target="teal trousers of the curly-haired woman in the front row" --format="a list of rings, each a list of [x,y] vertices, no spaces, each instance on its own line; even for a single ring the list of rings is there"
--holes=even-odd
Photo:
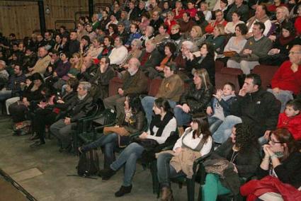
[[[220,176],[212,173],[206,175],[205,185],[202,187],[203,201],[217,200],[217,195],[225,195],[227,193],[230,193],[230,190],[222,185]]]

